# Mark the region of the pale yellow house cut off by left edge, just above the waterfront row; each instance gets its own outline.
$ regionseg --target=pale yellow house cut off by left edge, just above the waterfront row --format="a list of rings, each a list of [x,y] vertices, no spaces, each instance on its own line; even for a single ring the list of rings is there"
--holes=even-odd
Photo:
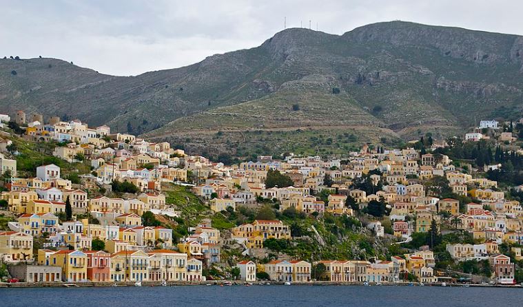
[[[0,231],[0,260],[32,260],[32,236],[16,231]]]

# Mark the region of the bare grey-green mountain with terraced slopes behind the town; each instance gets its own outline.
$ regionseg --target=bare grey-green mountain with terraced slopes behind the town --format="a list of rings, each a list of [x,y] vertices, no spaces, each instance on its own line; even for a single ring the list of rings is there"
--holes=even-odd
[[[7,112],[131,126],[211,156],[336,154],[426,132],[446,137],[482,118],[519,118],[522,90],[523,36],[402,21],[341,36],[287,29],[259,47],[130,77],[0,59]]]

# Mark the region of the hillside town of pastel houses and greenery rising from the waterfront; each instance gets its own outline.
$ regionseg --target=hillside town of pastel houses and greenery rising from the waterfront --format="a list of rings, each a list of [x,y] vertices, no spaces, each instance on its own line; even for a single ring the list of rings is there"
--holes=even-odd
[[[225,165],[105,125],[0,120],[4,282],[523,282],[523,185],[489,178],[523,154],[516,123]]]

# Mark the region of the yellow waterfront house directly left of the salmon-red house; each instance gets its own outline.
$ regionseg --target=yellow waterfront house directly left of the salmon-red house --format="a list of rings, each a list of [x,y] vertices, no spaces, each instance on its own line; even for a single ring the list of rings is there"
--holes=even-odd
[[[82,251],[63,250],[49,256],[51,266],[61,266],[64,282],[85,282],[87,277],[87,255]]]

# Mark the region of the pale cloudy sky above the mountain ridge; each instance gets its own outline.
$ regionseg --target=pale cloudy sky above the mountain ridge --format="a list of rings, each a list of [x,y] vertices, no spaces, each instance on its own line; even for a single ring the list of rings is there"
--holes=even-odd
[[[285,19],[331,34],[393,20],[523,34],[521,12],[515,0],[0,0],[0,56],[134,76],[256,47]]]

